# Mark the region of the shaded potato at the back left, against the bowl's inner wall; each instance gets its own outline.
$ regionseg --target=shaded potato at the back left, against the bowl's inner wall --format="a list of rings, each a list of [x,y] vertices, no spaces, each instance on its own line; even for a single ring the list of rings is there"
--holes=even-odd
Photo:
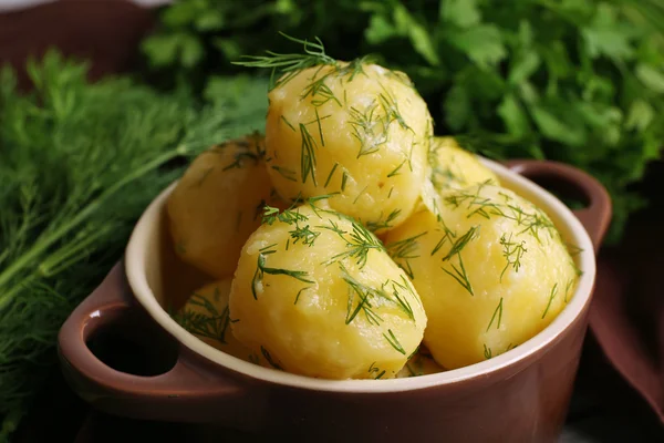
[[[263,164],[262,136],[215,146],[191,162],[168,198],[178,256],[215,278],[231,277],[262,207],[283,206]]]

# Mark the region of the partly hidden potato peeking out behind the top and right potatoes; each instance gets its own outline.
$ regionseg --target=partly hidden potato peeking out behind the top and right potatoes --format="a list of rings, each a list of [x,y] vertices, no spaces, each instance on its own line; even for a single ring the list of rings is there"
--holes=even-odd
[[[432,182],[440,192],[463,188],[490,181],[499,185],[498,176],[470,152],[461,148],[453,137],[434,137],[429,148]]]

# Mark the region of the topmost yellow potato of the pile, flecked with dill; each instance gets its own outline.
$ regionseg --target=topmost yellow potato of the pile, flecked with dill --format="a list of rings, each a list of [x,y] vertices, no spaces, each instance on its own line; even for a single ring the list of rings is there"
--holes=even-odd
[[[282,198],[335,194],[331,207],[372,231],[408,217],[433,126],[405,74],[335,62],[282,79],[269,100],[267,164]]]

